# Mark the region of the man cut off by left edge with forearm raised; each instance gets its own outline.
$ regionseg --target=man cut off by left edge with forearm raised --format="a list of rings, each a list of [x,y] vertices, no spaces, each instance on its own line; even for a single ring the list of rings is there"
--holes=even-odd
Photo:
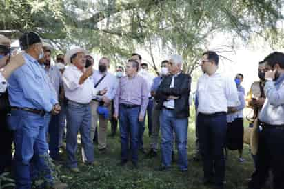
[[[6,79],[23,63],[22,54],[10,56],[10,39],[0,35],[0,174],[12,168],[13,132],[9,130],[6,119],[10,113]]]

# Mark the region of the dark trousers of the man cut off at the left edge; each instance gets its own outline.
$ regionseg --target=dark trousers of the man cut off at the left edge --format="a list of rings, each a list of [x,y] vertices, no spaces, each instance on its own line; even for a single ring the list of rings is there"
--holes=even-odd
[[[12,166],[12,142],[13,132],[9,130],[6,122],[6,114],[0,115],[0,174],[5,168]]]

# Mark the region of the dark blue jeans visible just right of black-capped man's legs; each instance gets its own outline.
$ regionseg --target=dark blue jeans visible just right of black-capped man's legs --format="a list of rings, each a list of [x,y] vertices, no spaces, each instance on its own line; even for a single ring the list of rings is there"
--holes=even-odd
[[[48,133],[50,135],[50,157],[52,159],[59,159],[59,115],[52,115]]]

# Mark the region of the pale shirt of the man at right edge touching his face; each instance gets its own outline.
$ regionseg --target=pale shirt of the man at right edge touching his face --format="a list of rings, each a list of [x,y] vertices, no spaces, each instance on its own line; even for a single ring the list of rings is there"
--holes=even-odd
[[[266,81],[264,86],[265,103],[259,119],[270,125],[284,124],[284,74],[275,82]]]

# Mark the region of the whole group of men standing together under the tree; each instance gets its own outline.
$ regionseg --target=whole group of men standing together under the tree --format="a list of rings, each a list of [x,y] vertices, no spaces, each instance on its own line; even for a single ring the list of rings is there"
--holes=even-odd
[[[131,160],[133,168],[139,168],[139,150],[145,153],[143,134],[146,115],[150,135],[150,152],[147,156],[157,155],[161,130],[162,158],[158,170],[170,170],[174,143],[178,151],[179,169],[182,172],[188,170],[187,128],[191,77],[182,71],[181,56],[172,55],[163,61],[159,77],[154,78],[148,72],[148,65],[142,63],[141,56],[134,53],[125,64],[125,76],[121,66],[116,68],[114,76],[108,72],[110,60],[107,57],[102,57],[98,70],[93,70],[94,59],[83,48],[68,50],[65,56],[59,54],[57,65],[51,66],[51,51],[43,47],[38,34],[23,34],[19,42],[24,52],[12,56],[8,40],[2,39],[6,38],[0,37],[0,66],[4,67],[0,74],[0,89],[5,92],[8,87],[8,93],[6,91],[6,96],[2,94],[1,100],[9,99],[10,104],[6,106],[6,115],[3,116],[7,126],[1,130],[10,133],[8,136],[14,139],[16,188],[31,188],[32,180],[41,174],[45,179],[43,187],[67,187],[55,180],[48,163],[50,157],[54,161],[61,161],[59,147],[63,145],[65,122],[67,166],[72,172],[79,172],[76,156],[78,133],[83,146],[83,162],[94,165],[94,141],[97,139],[100,152],[108,149],[108,120],[112,123],[112,134],[119,121],[119,166]],[[6,43],[2,44],[1,40]],[[261,126],[258,153],[254,157],[256,172],[252,175],[250,188],[261,188],[271,169],[274,188],[282,189],[284,54],[274,52],[263,63],[267,69],[259,75],[264,89],[259,98],[249,103],[250,106],[258,107]],[[233,123],[238,125],[243,122],[241,110],[244,108],[244,91],[239,86],[243,75],[237,76],[234,81],[219,73],[218,65],[219,55],[216,52],[208,51],[201,57],[203,75],[198,80],[196,90],[196,130],[203,160],[204,184],[222,189],[227,123],[233,126]],[[2,99],[4,97],[6,99]],[[264,105],[263,97],[266,97]],[[240,132],[243,133],[243,130]],[[11,139],[3,141],[2,148],[6,148],[6,153],[1,158],[8,162],[7,165],[12,164],[11,144]],[[237,146],[241,158],[242,139]],[[1,164],[1,172],[5,166]]]

